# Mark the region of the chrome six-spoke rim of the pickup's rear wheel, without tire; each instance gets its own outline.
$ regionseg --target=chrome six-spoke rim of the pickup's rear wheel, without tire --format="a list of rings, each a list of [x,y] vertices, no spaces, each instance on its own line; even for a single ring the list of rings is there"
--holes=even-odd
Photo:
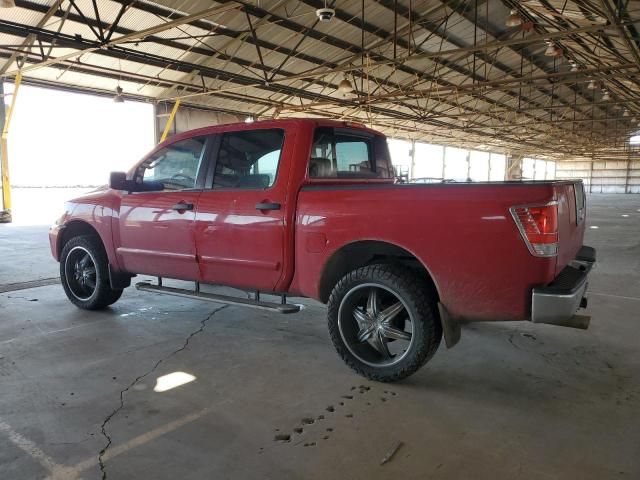
[[[388,367],[407,356],[414,319],[394,290],[365,283],[349,290],[338,309],[338,330],[351,354],[372,367]]]

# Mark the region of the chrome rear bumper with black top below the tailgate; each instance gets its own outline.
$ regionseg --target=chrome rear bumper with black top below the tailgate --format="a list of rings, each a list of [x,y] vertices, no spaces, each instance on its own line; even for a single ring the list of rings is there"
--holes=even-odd
[[[536,287],[531,294],[531,320],[566,327],[587,328],[588,317],[576,318],[576,311],[587,306],[588,277],[596,261],[595,249],[583,246],[576,259],[553,282]]]

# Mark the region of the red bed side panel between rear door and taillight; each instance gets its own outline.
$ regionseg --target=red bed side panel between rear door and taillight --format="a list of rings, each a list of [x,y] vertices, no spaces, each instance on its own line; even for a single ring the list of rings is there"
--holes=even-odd
[[[553,280],[556,258],[529,253],[509,207],[553,199],[551,184],[307,185],[298,198],[291,290],[318,298],[336,251],[378,240],[422,262],[454,318],[526,319],[531,289]]]

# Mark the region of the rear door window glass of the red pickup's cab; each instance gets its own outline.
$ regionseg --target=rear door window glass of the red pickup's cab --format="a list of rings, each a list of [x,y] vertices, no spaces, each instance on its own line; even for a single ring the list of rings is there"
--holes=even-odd
[[[213,188],[265,189],[276,181],[284,130],[229,132],[222,136]]]

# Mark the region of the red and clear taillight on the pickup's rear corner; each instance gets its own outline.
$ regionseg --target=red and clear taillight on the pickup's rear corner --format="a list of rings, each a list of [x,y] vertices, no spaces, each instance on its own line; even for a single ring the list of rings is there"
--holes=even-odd
[[[558,254],[558,202],[509,210],[532,255],[553,257]]]

